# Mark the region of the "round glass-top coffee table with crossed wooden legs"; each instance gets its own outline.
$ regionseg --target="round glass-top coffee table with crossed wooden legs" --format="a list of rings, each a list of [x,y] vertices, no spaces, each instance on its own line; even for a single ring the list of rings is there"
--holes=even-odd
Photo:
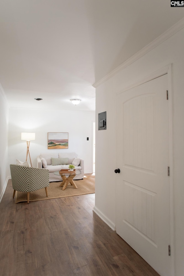
[[[76,175],[79,175],[80,173],[82,173],[82,170],[74,170],[74,171],[70,171],[70,170],[58,170],[57,172],[54,172],[55,175],[60,175],[63,182],[60,184],[60,187],[63,186],[63,191],[66,189],[66,187],[68,186],[68,183],[70,183],[72,186],[74,186],[75,189],[77,189],[77,186],[75,184],[75,182],[73,181],[73,178]],[[66,177],[68,176],[68,177]]]

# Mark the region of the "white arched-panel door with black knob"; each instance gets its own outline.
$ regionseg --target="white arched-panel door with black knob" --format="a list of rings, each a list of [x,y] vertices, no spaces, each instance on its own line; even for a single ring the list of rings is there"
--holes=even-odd
[[[170,275],[167,74],[116,97],[116,231]]]

